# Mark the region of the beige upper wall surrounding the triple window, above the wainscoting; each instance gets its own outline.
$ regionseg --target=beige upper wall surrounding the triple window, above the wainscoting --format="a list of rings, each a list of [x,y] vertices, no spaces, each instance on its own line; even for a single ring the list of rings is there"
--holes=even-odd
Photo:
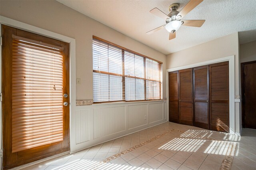
[[[76,85],[78,100],[93,99],[92,35],[161,61],[166,70],[166,55],[57,1],[1,0],[0,15],[76,39],[76,78],[81,79]],[[163,71],[164,98],[165,77]]]

